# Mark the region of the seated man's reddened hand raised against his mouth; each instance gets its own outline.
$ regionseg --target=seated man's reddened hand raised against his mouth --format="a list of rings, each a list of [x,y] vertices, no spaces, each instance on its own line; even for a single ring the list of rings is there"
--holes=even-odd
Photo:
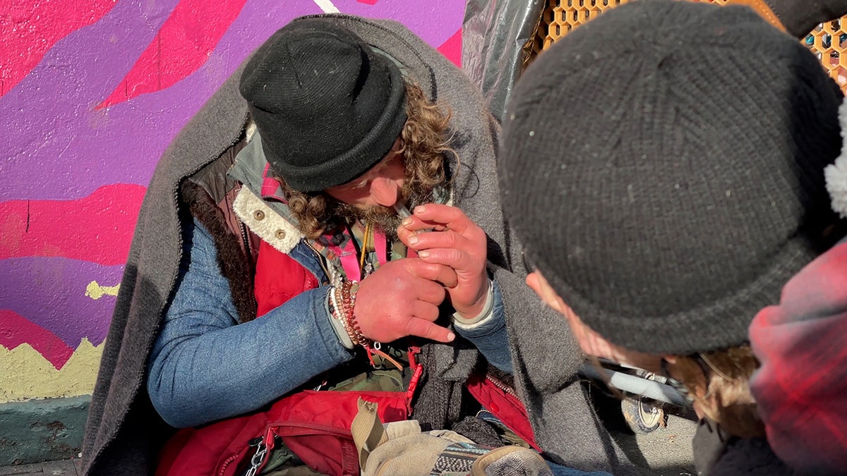
[[[418,233],[429,229],[432,231]],[[458,313],[475,318],[482,312],[488,296],[488,247],[485,232],[468,215],[455,207],[427,203],[403,220],[397,235],[426,263],[442,264],[456,272],[457,284],[447,286],[447,292]]]

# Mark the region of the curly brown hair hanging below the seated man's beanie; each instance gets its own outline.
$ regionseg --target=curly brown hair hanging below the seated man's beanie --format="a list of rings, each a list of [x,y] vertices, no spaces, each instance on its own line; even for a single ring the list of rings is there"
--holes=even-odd
[[[442,110],[437,102],[429,101],[424,91],[411,81],[406,81],[406,113],[408,119],[400,133],[398,153],[406,169],[406,180],[401,196],[429,196],[436,185],[447,183],[446,153],[456,152],[450,147],[447,129],[450,123],[449,108]],[[352,218],[352,209],[336,202],[324,192],[301,192],[282,184],[285,199],[298,228],[307,238],[315,239],[326,230]]]

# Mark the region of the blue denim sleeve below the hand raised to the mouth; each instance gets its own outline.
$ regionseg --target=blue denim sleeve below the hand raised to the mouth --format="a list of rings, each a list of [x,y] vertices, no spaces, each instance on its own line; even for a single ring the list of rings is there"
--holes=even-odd
[[[512,355],[509,353],[509,336],[506,330],[506,307],[503,306],[503,293],[497,281],[493,283],[492,294],[494,302],[491,307],[491,316],[479,322],[479,325],[471,329],[456,326],[456,331],[482,352],[488,362],[501,369],[503,372],[512,374]]]

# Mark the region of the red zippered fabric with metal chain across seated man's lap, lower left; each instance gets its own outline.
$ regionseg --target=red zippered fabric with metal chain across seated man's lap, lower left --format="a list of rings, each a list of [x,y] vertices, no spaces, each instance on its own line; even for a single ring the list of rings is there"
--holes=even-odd
[[[407,396],[400,392],[303,390],[263,412],[180,429],[165,446],[156,476],[252,476],[262,471],[279,440],[318,473],[357,475],[350,426],[359,398],[376,403],[382,421],[408,417]]]

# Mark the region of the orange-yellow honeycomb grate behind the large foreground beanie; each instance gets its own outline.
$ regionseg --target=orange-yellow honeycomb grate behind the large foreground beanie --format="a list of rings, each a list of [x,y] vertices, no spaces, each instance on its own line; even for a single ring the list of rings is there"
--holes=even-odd
[[[546,0],[547,5],[541,14],[538,32],[534,39],[533,53],[537,55],[549,48],[562,36],[567,35],[579,25],[593,19],[609,8],[627,3],[629,0]],[[710,0],[700,0],[709,2]],[[711,0],[711,3],[723,5],[727,0]],[[804,44],[821,60],[830,77],[836,80],[842,91],[847,92],[847,17],[818,27],[806,36]]]

